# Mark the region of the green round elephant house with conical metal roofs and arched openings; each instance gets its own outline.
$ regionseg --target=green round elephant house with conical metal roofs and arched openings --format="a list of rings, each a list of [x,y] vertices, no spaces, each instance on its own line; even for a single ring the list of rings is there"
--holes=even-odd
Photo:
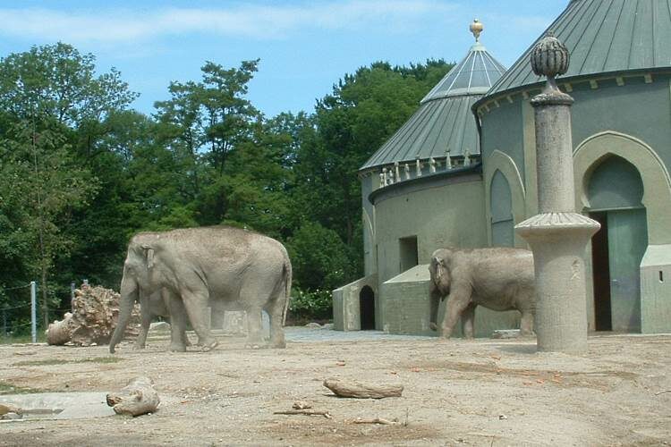
[[[602,224],[585,253],[590,330],[669,333],[671,1],[573,0],[548,30],[571,54],[558,82],[575,99],[576,210]],[[514,225],[538,206],[531,47],[505,71],[476,42],[361,166],[365,276],[334,291],[336,329],[432,333],[434,249],[526,247]],[[475,325],[488,336],[519,314],[480,307]]]

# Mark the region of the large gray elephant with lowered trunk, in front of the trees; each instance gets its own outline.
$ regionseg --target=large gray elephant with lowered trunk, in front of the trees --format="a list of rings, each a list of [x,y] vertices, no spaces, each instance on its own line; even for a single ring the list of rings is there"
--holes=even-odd
[[[270,344],[285,347],[284,321],[289,304],[292,266],[285,247],[257,232],[226,226],[190,228],[170,232],[142,232],[128,245],[123,264],[119,321],[109,344],[121,341],[140,291],[168,293],[173,324],[171,350],[186,350],[178,333],[186,309],[203,350],[217,341],[209,333],[206,312],[209,299],[247,312],[251,345],[263,341],[261,310],[270,316]]]

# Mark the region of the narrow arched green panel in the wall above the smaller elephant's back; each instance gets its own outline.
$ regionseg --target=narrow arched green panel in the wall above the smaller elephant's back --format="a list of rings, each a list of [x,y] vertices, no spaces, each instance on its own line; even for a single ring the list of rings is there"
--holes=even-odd
[[[513,197],[510,185],[501,171],[497,170],[492,177],[489,197],[491,244],[493,247],[513,247]]]

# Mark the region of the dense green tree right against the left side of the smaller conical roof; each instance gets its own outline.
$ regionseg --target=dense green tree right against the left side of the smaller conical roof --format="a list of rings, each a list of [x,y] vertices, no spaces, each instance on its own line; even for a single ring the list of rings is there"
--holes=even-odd
[[[451,67],[444,61],[362,67],[318,101],[314,132],[306,128],[302,133],[295,164],[297,212],[340,236],[350,250],[354,275],[361,274],[362,259],[357,172]]]

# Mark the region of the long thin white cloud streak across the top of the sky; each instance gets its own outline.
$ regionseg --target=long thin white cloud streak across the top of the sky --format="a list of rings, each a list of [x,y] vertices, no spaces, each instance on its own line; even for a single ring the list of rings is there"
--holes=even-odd
[[[66,42],[123,43],[190,33],[283,38],[296,30],[419,30],[423,21],[448,19],[454,6],[440,0],[350,0],[222,8],[0,9],[0,35]]]

